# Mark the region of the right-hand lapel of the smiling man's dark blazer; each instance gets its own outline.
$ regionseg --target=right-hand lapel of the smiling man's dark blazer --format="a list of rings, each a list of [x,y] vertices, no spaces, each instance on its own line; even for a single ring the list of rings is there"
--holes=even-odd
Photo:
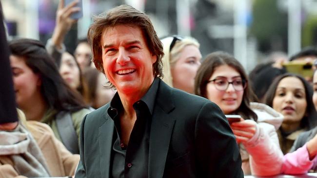
[[[162,178],[175,119],[168,113],[175,107],[171,89],[162,81],[154,107],[149,145],[149,178]]]

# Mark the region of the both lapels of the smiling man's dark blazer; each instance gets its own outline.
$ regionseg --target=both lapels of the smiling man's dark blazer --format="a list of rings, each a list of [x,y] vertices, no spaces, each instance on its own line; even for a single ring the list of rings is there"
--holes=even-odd
[[[153,117],[149,141],[149,178],[162,178],[164,174],[166,157],[169,149],[170,139],[175,124],[175,119],[169,113],[175,108],[173,102],[172,88],[159,79],[159,86],[156,97],[156,105],[153,109]],[[99,156],[100,174],[109,178],[111,149],[114,134],[113,120],[104,110],[103,125],[99,126]]]

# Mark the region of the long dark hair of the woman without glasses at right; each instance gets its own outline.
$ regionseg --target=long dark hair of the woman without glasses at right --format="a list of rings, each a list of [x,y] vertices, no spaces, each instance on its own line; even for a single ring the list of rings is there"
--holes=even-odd
[[[301,83],[304,85],[305,93],[306,93],[306,114],[300,121],[300,127],[303,129],[312,129],[316,126],[316,118],[317,118],[317,112],[314,107],[313,103],[313,88],[312,86],[301,76],[294,74],[294,73],[285,73],[283,75],[278,76],[273,83],[271,84],[270,88],[267,90],[265,94],[265,103],[272,107],[273,106],[273,99],[275,97],[275,93],[277,90],[277,86],[279,82],[285,78],[285,77],[296,77],[298,78]]]

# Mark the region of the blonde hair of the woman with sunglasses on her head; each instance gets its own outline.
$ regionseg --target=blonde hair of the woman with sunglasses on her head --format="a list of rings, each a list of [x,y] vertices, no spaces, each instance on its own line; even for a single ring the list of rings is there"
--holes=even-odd
[[[163,63],[163,81],[168,84],[170,87],[173,87],[173,76],[171,69],[175,66],[176,62],[179,59],[181,51],[188,45],[194,45],[199,48],[198,41],[190,36],[185,36],[181,40],[177,40],[175,45],[170,51],[170,46],[173,41],[173,36],[168,36],[161,39],[163,43],[163,52],[164,56],[162,57]]]

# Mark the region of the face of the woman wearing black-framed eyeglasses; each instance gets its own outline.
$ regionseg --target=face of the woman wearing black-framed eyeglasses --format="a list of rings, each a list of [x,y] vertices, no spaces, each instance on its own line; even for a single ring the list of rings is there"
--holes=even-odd
[[[236,111],[241,105],[244,89],[236,90],[233,84],[229,84],[226,90],[219,90],[216,85],[220,85],[225,81],[241,82],[240,73],[233,67],[222,65],[215,69],[209,81],[214,79],[217,80],[209,82],[206,86],[207,98],[216,103],[224,114]]]

